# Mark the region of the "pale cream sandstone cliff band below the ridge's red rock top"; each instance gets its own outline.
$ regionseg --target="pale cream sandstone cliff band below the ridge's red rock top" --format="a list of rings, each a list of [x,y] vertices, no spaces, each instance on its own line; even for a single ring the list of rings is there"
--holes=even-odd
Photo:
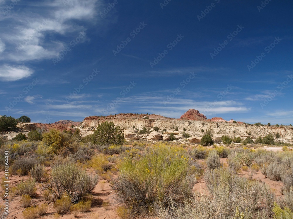
[[[231,138],[240,137],[245,139],[250,136],[255,139],[256,136],[265,137],[267,134],[280,133],[283,142],[292,143],[293,140],[293,126],[255,126],[250,124],[238,124],[228,122],[214,122],[214,121],[191,121],[180,119],[107,119],[112,121],[115,126],[120,126],[127,140],[147,139],[151,141],[170,140],[170,134],[173,133],[177,140],[182,138],[183,128],[185,133],[188,133],[191,138],[188,138],[190,143],[200,143],[201,137],[207,130],[210,130],[213,134],[213,138],[219,138],[222,135],[228,135]],[[83,136],[93,133],[96,127],[103,122],[102,120],[84,120],[79,126]],[[133,128],[141,130],[143,127],[153,128],[159,127],[160,131],[166,129],[163,134],[161,132],[151,132],[150,134],[139,135]],[[178,131],[175,131],[173,126],[178,127]],[[203,129],[203,131],[202,131]],[[248,135],[249,133],[249,135]],[[277,139],[275,139],[277,140]]]

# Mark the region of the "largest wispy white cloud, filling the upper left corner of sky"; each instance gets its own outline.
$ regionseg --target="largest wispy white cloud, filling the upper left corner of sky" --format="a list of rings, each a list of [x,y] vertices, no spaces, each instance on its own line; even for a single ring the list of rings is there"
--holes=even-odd
[[[0,33],[0,52],[4,54],[0,60],[21,62],[56,58],[68,46],[70,37],[75,39],[80,31],[86,30],[74,20],[94,22],[97,2],[98,0],[38,2],[38,10],[26,11],[23,8],[21,13],[6,15],[2,18],[5,22],[0,25],[5,30]],[[11,25],[14,28],[9,28]],[[55,34],[62,34],[69,41],[54,41]],[[50,36],[50,40],[47,36]]]

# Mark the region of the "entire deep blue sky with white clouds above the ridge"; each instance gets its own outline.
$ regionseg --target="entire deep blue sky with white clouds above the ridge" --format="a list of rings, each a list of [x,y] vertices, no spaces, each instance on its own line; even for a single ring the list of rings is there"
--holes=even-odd
[[[293,123],[292,8],[276,1],[0,0],[0,114]]]

